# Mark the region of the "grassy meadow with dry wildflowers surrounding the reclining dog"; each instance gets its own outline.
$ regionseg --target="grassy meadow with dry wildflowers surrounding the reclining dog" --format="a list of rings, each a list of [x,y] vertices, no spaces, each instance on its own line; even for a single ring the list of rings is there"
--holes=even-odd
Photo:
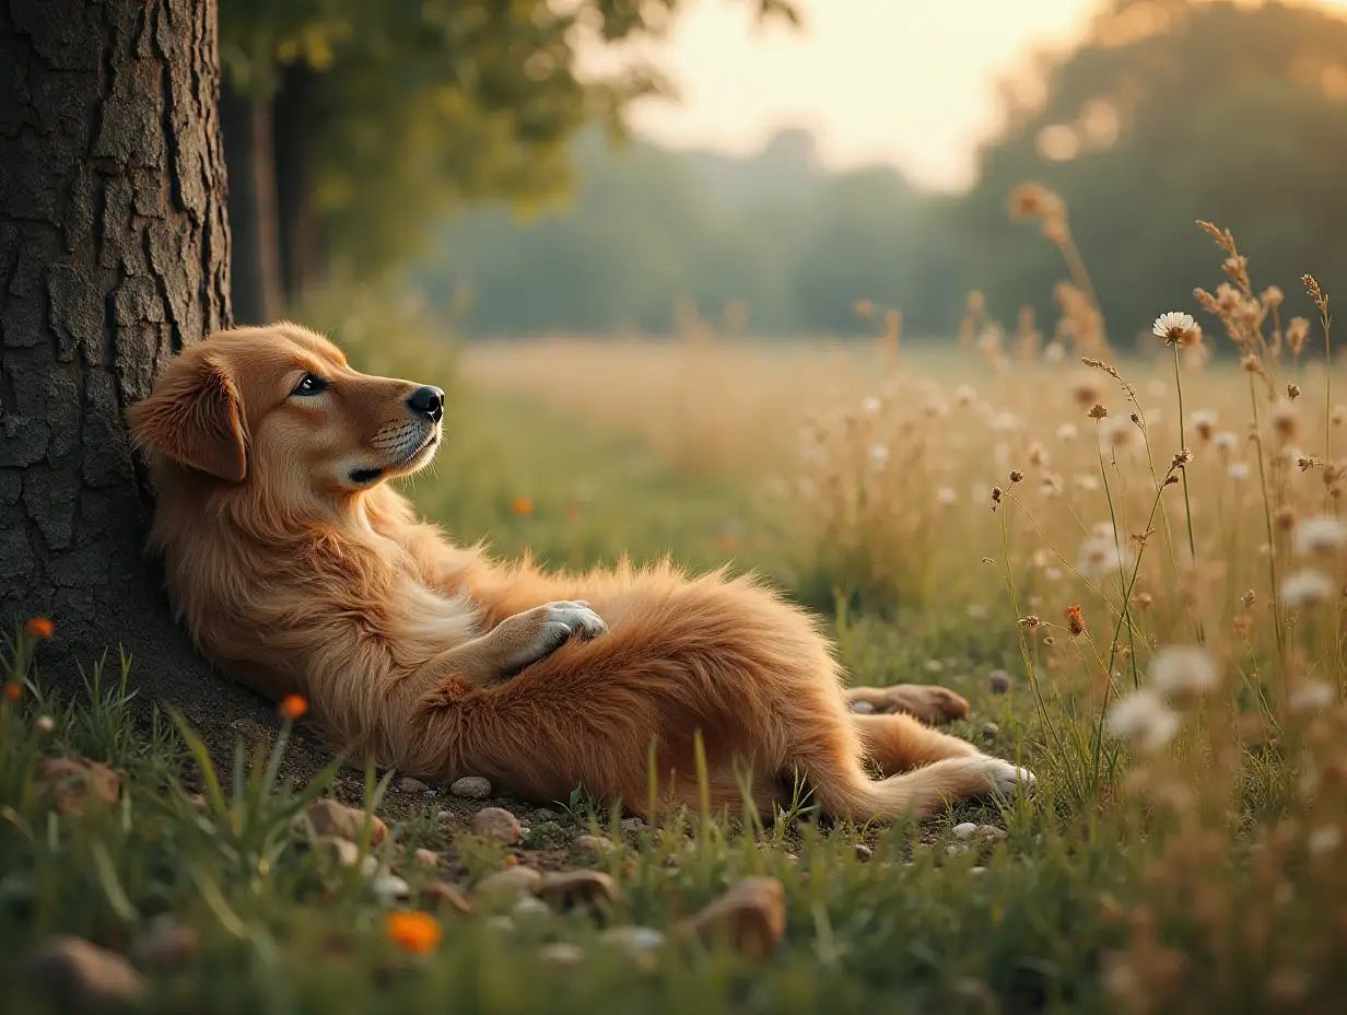
[[[314,309],[366,369],[451,377],[411,492],[457,539],[757,570],[818,611],[854,682],[963,694],[952,732],[1034,791],[880,828],[820,824],[807,793],[768,822],[647,825],[577,787],[489,801],[528,829],[502,844],[481,803],[369,772],[348,802],[387,834],[339,847],[303,818],[330,778],[279,775],[300,709],[211,759],[167,712],[135,717],[133,662],[47,698],[35,619],[0,705],[8,1010],[59,992],[65,966],[31,956],[57,934],[129,957],[108,976],[139,1011],[1340,1010],[1347,379],[1324,367],[1327,298],[1282,319],[1272,283],[1317,283],[1255,284],[1215,230],[1196,319],[1154,307],[1133,353],[1047,198],[1020,210],[1068,255],[1061,319],[1004,326],[974,294],[939,352],[866,303],[873,342],[702,325],[451,349],[408,342],[424,324],[374,297]],[[62,758],[120,770],[120,791],[61,782]],[[520,868],[607,879],[575,904],[502,888]],[[780,937],[687,931],[761,876]]]

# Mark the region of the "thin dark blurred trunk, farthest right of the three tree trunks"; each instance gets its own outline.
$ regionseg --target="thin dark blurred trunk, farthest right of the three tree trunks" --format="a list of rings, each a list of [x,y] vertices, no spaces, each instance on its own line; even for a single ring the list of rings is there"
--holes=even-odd
[[[300,65],[286,67],[276,93],[275,136],[282,278],[288,306],[294,306],[322,272],[322,241],[314,213],[314,139],[321,117],[318,75]]]

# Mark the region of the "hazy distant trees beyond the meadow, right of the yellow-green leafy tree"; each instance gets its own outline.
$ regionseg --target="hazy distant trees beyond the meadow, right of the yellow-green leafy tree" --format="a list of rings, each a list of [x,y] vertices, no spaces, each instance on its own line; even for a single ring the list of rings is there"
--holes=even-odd
[[[579,178],[568,206],[442,220],[438,256],[416,278],[481,336],[667,333],[676,306],[715,321],[731,301],[758,334],[872,332],[857,299],[900,307],[908,336],[950,336],[970,288],[1010,324],[1030,302],[1051,332],[1067,271],[1008,213],[1026,181],[1067,201],[1121,348],[1158,311],[1192,309],[1195,283],[1222,280],[1197,218],[1234,229],[1255,280],[1286,291],[1288,314],[1309,311],[1305,271],[1329,290],[1347,275],[1342,18],[1278,3],[1115,0],[1078,46],[1040,54],[1008,82],[1002,102],[973,187],[952,195],[890,167],[830,174],[801,131],[748,158],[614,150],[585,133],[567,150]]]

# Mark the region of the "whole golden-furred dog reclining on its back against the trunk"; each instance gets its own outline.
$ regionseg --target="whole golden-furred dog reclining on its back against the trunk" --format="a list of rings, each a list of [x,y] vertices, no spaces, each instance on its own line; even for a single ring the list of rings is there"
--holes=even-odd
[[[353,759],[645,813],[652,743],[663,799],[696,803],[700,731],[714,807],[750,786],[770,813],[801,778],[861,821],[1033,780],[920,721],[966,714],[952,691],[845,691],[811,617],[752,578],[554,574],[454,546],[388,485],[431,461],[443,411],[438,388],[360,373],[292,324],[190,346],[131,410],[151,549],[197,644],[268,698],[307,698]]]

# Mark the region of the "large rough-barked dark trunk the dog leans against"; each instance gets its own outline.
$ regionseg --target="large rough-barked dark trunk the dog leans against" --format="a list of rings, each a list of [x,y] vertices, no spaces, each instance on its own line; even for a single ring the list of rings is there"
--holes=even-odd
[[[143,546],[124,410],[229,324],[216,0],[0,4],[0,623],[55,623],[74,694],[121,644],[139,701],[230,745],[269,709],[214,677]]]

